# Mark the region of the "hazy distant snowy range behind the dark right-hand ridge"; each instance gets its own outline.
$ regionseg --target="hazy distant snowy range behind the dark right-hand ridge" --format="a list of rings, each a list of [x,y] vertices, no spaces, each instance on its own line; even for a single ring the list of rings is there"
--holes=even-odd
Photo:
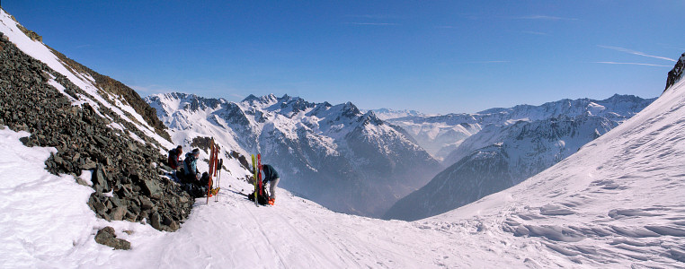
[[[387,117],[387,122],[404,128],[427,152],[449,166],[473,152],[459,148],[468,137],[485,126],[507,126],[519,120],[535,121],[559,116],[577,117],[589,113],[620,123],[649,105],[654,99],[614,95],[606,100],[558,100],[540,106],[519,105],[513,108],[490,108],[478,113],[439,116]],[[418,113],[418,112],[417,112]],[[392,114],[391,114],[392,115]],[[485,145],[480,145],[485,146]]]

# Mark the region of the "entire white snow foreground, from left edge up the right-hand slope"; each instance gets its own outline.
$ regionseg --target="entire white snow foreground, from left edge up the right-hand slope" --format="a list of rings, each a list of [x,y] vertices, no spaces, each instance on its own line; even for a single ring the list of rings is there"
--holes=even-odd
[[[85,204],[92,190],[44,172],[50,150],[22,135],[0,131],[0,267],[685,266],[685,82],[520,185],[414,222],[332,213],[287,192],[255,207],[231,191],[249,186],[225,176],[219,202],[198,199],[177,232],[105,223]],[[55,187],[73,195],[36,197]],[[103,225],[132,249],[95,244]]]

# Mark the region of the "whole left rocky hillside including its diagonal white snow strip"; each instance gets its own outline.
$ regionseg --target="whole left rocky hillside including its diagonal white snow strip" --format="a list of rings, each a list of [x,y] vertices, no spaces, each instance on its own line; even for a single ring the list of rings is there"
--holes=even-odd
[[[54,147],[47,169],[93,187],[87,202],[97,216],[179,229],[192,199],[164,176],[171,143],[154,110],[45,46],[4,10],[0,22],[0,125],[31,133],[26,145]]]

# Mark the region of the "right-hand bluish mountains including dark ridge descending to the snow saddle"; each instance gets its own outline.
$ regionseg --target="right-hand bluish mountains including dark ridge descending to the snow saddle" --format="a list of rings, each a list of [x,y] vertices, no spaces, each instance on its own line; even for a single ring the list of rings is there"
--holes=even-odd
[[[652,101],[614,95],[607,100],[493,108],[471,117],[453,115],[452,120],[460,118],[468,121],[462,124],[483,127],[445,159],[454,164],[398,201],[385,217],[423,219],[512,187],[564,160]]]

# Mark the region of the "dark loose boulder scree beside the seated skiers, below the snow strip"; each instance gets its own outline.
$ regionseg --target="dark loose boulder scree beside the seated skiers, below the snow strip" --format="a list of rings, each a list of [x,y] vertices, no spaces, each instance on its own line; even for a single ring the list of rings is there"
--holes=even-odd
[[[56,148],[45,162],[53,174],[78,177],[83,170],[93,171],[95,192],[88,204],[97,216],[177,230],[191,211],[192,199],[177,184],[160,177],[165,174],[160,169],[165,156],[157,142],[102,104],[97,110],[88,102],[72,105],[67,95],[75,99],[90,95],[24,54],[2,33],[0,49],[0,125],[31,133],[23,140],[27,146]],[[67,95],[50,82],[64,87]],[[125,129],[112,128],[111,123]]]

